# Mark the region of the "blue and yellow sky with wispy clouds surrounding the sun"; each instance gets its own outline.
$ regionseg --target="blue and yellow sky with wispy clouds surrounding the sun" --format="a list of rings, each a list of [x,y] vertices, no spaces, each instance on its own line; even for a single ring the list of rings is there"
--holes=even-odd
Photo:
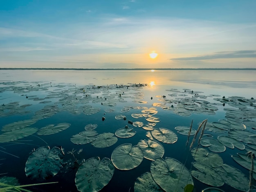
[[[0,68],[256,68],[255,7],[256,0],[0,0]]]

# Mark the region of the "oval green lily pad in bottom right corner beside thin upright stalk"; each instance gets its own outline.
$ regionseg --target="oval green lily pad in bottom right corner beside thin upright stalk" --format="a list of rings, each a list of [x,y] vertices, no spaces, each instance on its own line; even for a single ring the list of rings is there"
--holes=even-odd
[[[218,168],[218,172],[226,184],[241,191],[248,191],[249,184],[245,185],[245,183],[249,183],[249,179],[240,170],[223,164]]]

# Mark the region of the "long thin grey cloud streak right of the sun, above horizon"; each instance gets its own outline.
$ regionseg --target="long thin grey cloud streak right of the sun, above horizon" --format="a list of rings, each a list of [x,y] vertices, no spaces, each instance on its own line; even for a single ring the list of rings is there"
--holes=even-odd
[[[210,55],[171,58],[170,60],[185,61],[185,60],[209,60],[209,59],[226,59],[226,58],[256,58],[256,50],[222,51],[222,52],[215,52]]]

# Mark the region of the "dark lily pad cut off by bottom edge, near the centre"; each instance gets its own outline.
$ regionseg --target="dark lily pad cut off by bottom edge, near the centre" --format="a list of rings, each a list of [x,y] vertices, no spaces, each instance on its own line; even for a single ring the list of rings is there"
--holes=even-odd
[[[150,172],[139,176],[134,184],[134,192],[164,192],[162,188],[154,181]]]

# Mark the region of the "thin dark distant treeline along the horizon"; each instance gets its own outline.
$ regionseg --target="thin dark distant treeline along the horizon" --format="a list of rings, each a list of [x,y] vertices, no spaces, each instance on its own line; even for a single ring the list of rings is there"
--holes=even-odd
[[[81,69],[81,68],[0,68],[0,70],[77,70],[77,71],[134,71],[134,70],[171,70],[171,71],[178,71],[178,70],[229,70],[229,71],[250,71],[256,70],[256,68],[134,68],[134,69]]]

